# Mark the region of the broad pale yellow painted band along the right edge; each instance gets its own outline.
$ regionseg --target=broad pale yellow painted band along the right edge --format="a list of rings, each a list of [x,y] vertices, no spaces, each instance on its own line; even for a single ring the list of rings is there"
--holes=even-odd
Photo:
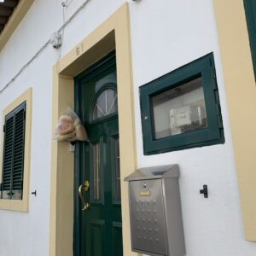
[[[214,0],[246,239],[256,241],[256,86],[243,0]]]

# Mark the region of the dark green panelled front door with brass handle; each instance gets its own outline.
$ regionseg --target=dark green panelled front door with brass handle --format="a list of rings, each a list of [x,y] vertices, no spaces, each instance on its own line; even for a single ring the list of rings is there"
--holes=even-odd
[[[123,255],[119,175],[119,125],[115,55],[104,58],[76,80],[76,111],[88,143],[76,147],[75,255]],[[82,188],[84,205],[78,190]]]

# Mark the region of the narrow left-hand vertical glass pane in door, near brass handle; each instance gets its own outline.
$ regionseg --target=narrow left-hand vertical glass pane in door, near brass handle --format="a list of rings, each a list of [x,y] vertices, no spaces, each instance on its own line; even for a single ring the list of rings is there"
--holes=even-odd
[[[101,199],[100,144],[93,145],[93,198]]]

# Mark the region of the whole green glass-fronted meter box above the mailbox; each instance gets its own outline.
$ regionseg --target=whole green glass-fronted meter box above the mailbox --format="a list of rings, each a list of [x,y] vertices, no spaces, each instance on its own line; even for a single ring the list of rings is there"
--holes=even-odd
[[[144,154],[224,143],[213,55],[140,87]]]

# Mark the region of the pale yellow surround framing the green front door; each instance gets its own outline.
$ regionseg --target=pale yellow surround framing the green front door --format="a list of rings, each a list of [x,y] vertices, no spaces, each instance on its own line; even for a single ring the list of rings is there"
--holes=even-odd
[[[74,104],[73,78],[116,50],[119,147],[122,194],[124,255],[131,252],[128,188],[124,177],[137,169],[133,84],[131,70],[131,39],[128,3],[123,4],[108,20],[82,40],[53,67],[52,131],[61,113]],[[50,256],[73,255],[73,175],[74,155],[69,143],[52,143],[50,191]]]

